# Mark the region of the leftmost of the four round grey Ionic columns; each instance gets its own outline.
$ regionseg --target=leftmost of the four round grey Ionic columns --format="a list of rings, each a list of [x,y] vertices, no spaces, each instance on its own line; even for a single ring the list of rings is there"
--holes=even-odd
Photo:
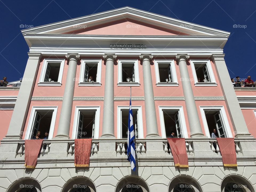
[[[57,135],[55,136],[58,138],[69,138],[70,120],[75,89],[74,78],[77,71],[77,61],[80,59],[80,55],[78,53],[70,53],[66,55],[66,58],[69,61],[69,67],[67,70],[66,85],[61,106],[58,131]]]

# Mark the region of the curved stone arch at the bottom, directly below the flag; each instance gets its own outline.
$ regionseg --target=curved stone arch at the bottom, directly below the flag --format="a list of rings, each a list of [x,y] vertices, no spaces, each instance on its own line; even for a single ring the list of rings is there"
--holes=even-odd
[[[127,185],[137,185],[138,187],[140,187],[142,189],[143,192],[150,192],[149,190],[149,186],[147,185],[147,183],[138,176],[127,176],[124,177],[123,179],[121,179],[117,186],[115,187],[115,192],[122,192],[122,189],[124,187],[126,187]]]

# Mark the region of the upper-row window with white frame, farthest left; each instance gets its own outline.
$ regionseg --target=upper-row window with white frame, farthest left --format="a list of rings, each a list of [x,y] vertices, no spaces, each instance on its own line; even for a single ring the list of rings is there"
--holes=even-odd
[[[38,86],[61,86],[65,59],[45,59]]]

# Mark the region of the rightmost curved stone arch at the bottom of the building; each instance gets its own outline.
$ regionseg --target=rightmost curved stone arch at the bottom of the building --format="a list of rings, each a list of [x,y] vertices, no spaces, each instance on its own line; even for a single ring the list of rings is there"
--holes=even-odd
[[[233,188],[239,188],[238,191],[242,192],[255,192],[255,189],[253,185],[248,181],[246,178],[240,176],[240,175],[228,175],[226,176],[222,182],[221,182],[221,192],[225,191],[225,187],[230,186],[230,183],[232,183],[231,187]]]

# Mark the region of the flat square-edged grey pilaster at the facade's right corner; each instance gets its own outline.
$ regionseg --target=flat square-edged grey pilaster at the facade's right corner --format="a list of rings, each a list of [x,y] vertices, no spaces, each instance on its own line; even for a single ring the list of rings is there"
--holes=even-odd
[[[235,131],[235,137],[247,137],[251,134],[249,133],[245,119],[243,118],[234,87],[230,83],[230,76],[224,60],[224,55],[225,54],[213,54],[212,59],[217,70],[229,117]]]

